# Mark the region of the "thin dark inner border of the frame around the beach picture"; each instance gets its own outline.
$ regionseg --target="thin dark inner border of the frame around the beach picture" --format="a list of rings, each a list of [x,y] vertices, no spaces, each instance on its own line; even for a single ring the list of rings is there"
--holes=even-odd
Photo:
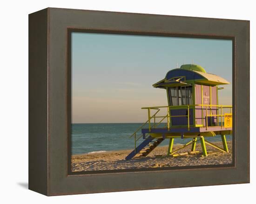
[[[115,12],[118,13],[118,12]],[[198,17],[199,18],[199,17]],[[224,165],[203,165],[203,166],[175,166],[175,167],[160,167],[160,168],[140,168],[140,169],[123,169],[123,170],[100,170],[100,171],[81,171],[72,172],[71,171],[71,34],[73,32],[81,33],[98,33],[98,34],[118,34],[118,35],[134,35],[134,36],[160,36],[160,37],[180,37],[180,38],[199,38],[199,39],[229,39],[232,40],[232,71],[233,76],[235,76],[235,37],[234,36],[218,36],[218,35],[200,35],[200,34],[181,34],[181,33],[163,33],[163,32],[135,32],[135,31],[118,31],[118,30],[97,30],[97,29],[81,29],[81,28],[67,28],[67,134],[68,134],[68,145],[67,145],[67,160],[68,160],[68,170],[67,176],[83,176],[88,174],[106,174],[106,173],[119,173],[119,172],[154,172],[154,171],[167,171],[167,170],[193,170],[193,169],[207,169],[207,168],[235,168],[235,140],[232,142],[232,164]],[[234,77],[232,77],[234,81]],[[233,83],[234,86],[235,83]],[[235,96],[235,87],[233,87],[232,94]],[[234,103],[234,102],[233,102]],[[235,113],[235,108],[233,107],[233,113]],[[235,127],[235,121],[233,121],[233,127]],[[191,187],[191,186],[182,186]],[[131,190],[132,191],[132,190]]]

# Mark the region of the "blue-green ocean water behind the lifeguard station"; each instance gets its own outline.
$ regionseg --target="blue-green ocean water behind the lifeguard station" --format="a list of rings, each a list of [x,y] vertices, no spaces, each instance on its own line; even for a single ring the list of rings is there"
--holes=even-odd
[[[75,123],[71,125],[71,153],[95,153],[112,150],[134,149],[134,137],[129,138],[142,123]],[[147,126],[145,126],[146,128]],[[139,132],[141,133],[141,131]],[[232,140],[232,135],[226,136]],[[175,138],[174,144],[185,144],[191,139]],[[209,141],[222,141],[219,135],[208,137]],[[137,146],[143,141],[137,141]],[[159,146],[168,145],[163,140]]]

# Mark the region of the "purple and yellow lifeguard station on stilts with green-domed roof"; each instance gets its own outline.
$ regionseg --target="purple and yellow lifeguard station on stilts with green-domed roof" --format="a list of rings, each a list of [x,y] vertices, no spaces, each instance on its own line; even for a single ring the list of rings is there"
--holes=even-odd
[[[168,106],[142,108],[147,110],[148,121],[131,135],[135,149],[125,159],[137,154],[145,157],[165,139],[169,139],[167,156],[199,153],[195,150],[198,140],[203,156],[208,155],[206,144],[228,153],[225,135],[232,134],[232,106],[218,103],[218,91],[223,89],[218,86],[225,84],[229,82],[195,64],[183,64],[168,71],[164,79],[153,84],[155,88],[166,89]],[[221,135],[223,147],[205,139],[216,135]],[[141,138],[144,140],[137,146]],[[173,151],[175,138],[191,140]],[[190,152],[178,153],[189,145]]]

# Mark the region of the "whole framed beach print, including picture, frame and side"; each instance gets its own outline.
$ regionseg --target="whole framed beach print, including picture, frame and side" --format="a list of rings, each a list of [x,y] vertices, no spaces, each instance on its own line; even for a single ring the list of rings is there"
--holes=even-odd
[[[249,182],[249,21],[29,14],[29,189]]]

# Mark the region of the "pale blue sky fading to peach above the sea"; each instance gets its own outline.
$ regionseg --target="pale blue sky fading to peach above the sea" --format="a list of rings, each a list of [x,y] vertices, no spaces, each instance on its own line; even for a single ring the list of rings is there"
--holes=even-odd
[[[182,64],[201,65],[230,82],[219,104],[232,105],[232,41],[72,33],[72,122],[144,122],[141,107],[167,105],[152,84]]]

